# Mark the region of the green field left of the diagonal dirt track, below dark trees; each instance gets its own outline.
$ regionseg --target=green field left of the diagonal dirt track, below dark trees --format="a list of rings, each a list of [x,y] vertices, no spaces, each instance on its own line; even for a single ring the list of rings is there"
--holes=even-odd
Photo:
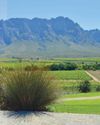
[[[83,70],[75,71],[50,71],[57,80],[91,80]]]

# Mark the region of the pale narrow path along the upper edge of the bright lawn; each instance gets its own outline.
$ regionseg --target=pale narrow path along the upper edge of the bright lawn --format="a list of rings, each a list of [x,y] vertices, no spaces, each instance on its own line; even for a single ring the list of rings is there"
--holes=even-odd
[[[95,99],[100,99],[100,96],[78,97],[78,98],[64,98],[64,99],[60,99],[59,102],[61,102],[61,101],[73,101],[73,100],[95,100]]]

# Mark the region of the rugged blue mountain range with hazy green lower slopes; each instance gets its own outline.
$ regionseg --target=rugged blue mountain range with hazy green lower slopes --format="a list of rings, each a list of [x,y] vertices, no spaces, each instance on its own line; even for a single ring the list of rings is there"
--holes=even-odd
[[[0,57],[99,57],[100,30],[62,16],[0,20]]]

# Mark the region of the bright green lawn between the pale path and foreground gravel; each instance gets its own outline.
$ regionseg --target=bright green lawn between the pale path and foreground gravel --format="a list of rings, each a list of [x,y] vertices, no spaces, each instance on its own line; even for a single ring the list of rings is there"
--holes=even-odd
[[[51,111],[79,114],[100,114],[100,99],[65,101],[51,105]]]

